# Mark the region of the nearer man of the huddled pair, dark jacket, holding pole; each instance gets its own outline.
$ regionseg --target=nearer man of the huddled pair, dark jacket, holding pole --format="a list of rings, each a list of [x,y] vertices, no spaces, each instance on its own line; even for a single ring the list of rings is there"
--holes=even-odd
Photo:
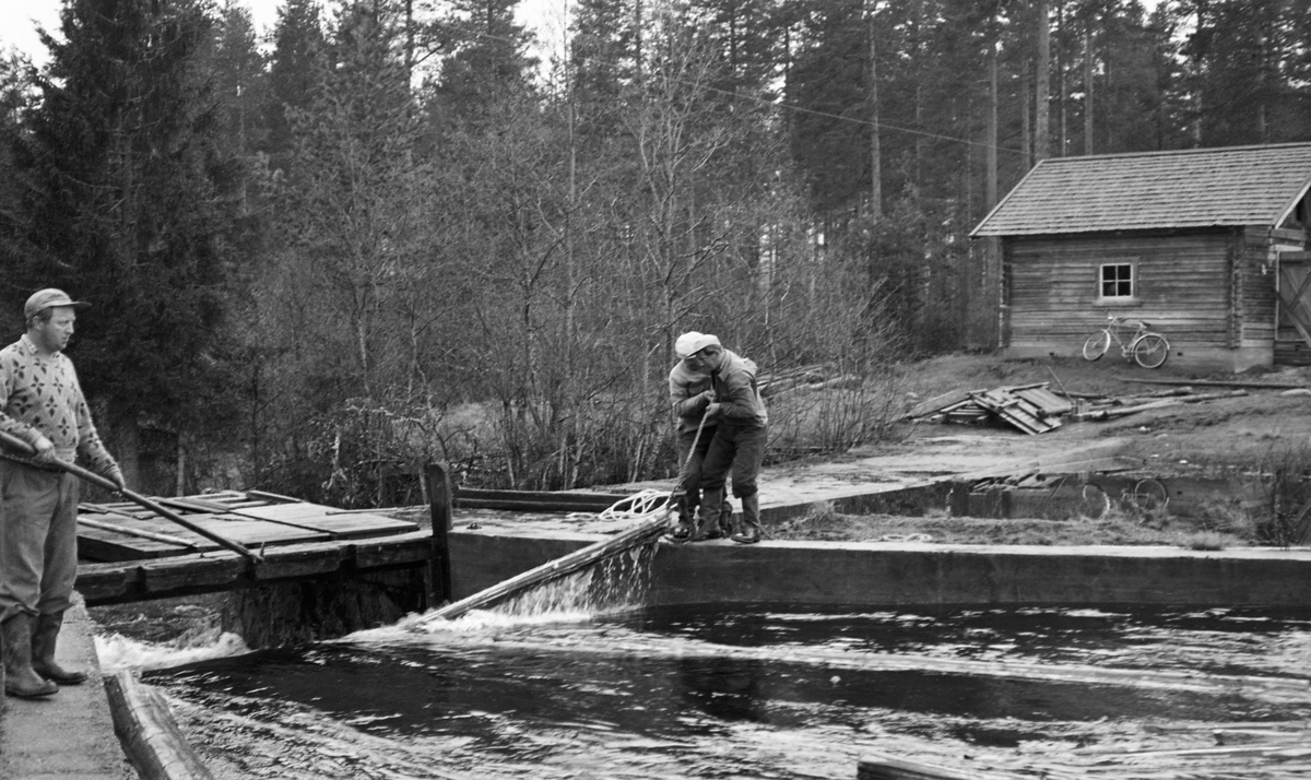
[[[764,460],[770,414],[756,387],[755,363],[722,346],[716,338],[684,361],[692,371],[711,372],[713,401],[705,408],[707,422],[714,422],[714,438],[701,464],[701,506],[705,522],[718,522],[724,482],[733,472],[733,494],[742,501],[742,519],[734,523],[733,541],[760,540],[760,497],[755,478]]]

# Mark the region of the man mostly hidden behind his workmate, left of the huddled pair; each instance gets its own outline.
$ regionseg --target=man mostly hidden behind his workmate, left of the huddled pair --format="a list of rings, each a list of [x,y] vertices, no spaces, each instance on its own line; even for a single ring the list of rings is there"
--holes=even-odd
[[[704,367],[694,371],[687,364],[688,355],[718,343],[718,338],[696,330],[679,336],[674,342],[678,363],[674,363],[674,368],[669,372],[669,400],[678,418],[679,484],[674,493],[678,524],[673,536],[682,541],[720,539],[732,531],[729,518],[733,517],[733,507],[728,501],[722,502],[716,515],[720,519],[716,523],[703,522],[704,511],[700,517],[697,514],[701,506],[701,461],[705,459],[705,451],[711,448],[711,439],[714,438],[714,423],[704,421],[704,416],[714,392],[711,389],[711,372]]]

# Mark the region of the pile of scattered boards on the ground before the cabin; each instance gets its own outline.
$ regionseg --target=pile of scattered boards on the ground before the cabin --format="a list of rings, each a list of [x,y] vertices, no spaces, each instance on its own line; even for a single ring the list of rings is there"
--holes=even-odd
[[[1055,430],[1066,419],[1105,421],[1150,409],[1245,395],[1247,389],[1197,393],[1192,387],[1175,387],[1155,393],[1114,397],[1053,389],[1050,383],[1040,381],[992,389],[950,391],[920,402],[905,418],[961,425],[999,423],[1032,435]]]

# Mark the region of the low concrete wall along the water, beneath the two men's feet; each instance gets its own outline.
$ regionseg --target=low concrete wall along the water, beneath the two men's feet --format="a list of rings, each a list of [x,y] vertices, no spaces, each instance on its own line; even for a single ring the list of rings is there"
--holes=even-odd
[[[464,598],[597,537],[452,534],[455,598]],[[973,547],[712,541],[665,544],[654,604],[979,606],[1311,604],[1311,551]]]

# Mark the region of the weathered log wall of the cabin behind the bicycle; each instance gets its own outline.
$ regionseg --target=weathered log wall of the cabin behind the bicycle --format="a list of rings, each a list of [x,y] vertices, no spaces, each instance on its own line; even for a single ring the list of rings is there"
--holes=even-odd
[[[1004,245],[999,346],[1016,355],[1074,355],[1108,316],[1118,315],[1164,333],[1176,362],[1269,364],[1274,253],[1304,245],[1301,229],[1261,225],[1012,236]],[[1099,299],[1099,269],[1106,262],[1134,263],[1133,300]]]

